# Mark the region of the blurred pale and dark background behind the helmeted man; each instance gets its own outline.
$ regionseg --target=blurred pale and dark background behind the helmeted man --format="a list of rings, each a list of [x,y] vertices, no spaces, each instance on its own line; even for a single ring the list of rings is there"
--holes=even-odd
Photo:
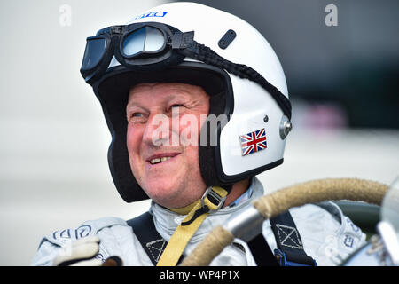
[[[0,265],[29,265],[53,231],[148,209],[113,186],[110,134],[79,68],[86,36],[165,2],[0,2]],[[260,176],[266,192],[325,177],[394,181],[398,1],[194,2],[251,23],[285,70],[293,132],[284,164]]]

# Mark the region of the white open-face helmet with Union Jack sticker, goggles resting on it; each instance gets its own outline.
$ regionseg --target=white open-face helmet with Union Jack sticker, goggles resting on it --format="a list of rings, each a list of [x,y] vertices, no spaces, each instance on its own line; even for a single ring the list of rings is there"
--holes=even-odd
[[[111,131],[108,162],[124,201],[148,198],[131,173],[126,147],[125,107],[136,83],[191,83],[210,95],[208,118],[221,119],[200,133],[207,185],[229,187],[283,162],[291,130],[283,69],[265,38],[228,12],[169,3],[103,28],[87,38],[81,73]]]

